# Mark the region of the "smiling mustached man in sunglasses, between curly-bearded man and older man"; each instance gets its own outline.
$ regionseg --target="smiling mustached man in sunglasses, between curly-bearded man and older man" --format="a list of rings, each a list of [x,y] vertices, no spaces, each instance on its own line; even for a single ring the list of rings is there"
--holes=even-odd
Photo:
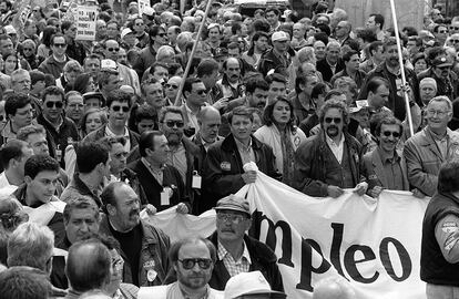
[[[376,125],[378,147],[363,157],[363,175],[371,197],[378,197],[382,189],[409,190],[405,158],[396,150],[402,132],[402,124],[394,116],[386,116]]]

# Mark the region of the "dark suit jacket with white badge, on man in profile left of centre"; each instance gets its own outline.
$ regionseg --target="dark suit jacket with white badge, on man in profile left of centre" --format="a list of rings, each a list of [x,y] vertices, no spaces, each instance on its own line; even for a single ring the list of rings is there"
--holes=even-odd
[[[162,185],[154,178],[141,159],[131,163],[128,167],[137,175],[139,183],[146,195],[147,203],[152,204],[157,212],[175,206],[178,203],[185,203],[191,212],[190,198],[185,193],[185,184],[183,184],[182,176],[174,166],[165,165]],[[173,190],[169,205],[161,205],[161,193],[164,187],[170,187]]]

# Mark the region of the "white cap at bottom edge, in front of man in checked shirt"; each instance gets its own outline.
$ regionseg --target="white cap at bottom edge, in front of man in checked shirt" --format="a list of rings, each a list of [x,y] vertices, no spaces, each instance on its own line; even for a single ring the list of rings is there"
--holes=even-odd
[[[277,295],[278,298],[286,297],[284,292],[273,291],[261,271],[253,271],[242,272],[230,278],[226,282],[224,299],[234,299],[243,295],[254,293]]]

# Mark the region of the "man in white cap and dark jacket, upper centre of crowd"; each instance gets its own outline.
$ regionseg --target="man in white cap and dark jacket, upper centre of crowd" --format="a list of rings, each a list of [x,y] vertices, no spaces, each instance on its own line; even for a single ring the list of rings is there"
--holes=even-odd
[[[284,31],[274,32],[271,37],[273,42],[273,49],[265,54],[263,54],[259,60],[257,70],[266,76],[269,71],[276,71],[287,75],[287,69],[292,63],[292,59],[287,53],[288,45],[288,35]]]

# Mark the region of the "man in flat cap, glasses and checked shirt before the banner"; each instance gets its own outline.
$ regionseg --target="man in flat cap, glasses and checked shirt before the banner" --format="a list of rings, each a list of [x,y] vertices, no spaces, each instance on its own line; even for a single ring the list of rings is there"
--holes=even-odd
[[[248,202],[232,194],[220,199],[215,210],[216,231],[210,239],[217,248],[217,259],[210,286],[223,290],[232,277],[258,270],[273,290],[284,291],[274,251],[245,234],[252,225]]]

